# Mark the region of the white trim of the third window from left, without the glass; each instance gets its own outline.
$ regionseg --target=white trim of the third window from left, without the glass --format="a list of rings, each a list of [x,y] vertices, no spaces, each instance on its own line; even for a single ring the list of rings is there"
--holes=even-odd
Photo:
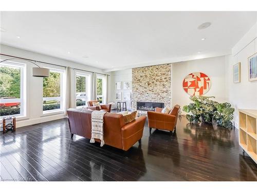
[[[86,103],[85,105],[77,106],[77,76],[86,77]],[[75,71],[75,86],[74,86],[74,93],[75,93],[75,106],[77,109],[81,109],[84,106],[87,106],[87,101],[91,100],[91,74],[86,72],[81,72],[76,70]]]

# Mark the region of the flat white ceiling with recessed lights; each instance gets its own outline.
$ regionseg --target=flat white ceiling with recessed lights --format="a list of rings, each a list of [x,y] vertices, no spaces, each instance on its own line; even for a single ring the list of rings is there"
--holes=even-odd
[[[114,71],[229,54],[256,22],[256,12],[1,12],[0,26],[1,44]]]

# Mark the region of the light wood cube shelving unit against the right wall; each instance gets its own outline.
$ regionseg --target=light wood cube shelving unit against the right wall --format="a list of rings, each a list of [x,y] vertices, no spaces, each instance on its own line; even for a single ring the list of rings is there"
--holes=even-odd
[[[257,110],[239,110],[239,144],[257,163]]]

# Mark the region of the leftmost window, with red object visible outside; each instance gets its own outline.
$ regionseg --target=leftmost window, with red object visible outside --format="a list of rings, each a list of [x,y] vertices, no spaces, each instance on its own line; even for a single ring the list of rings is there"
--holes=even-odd
[[[0,117],[25,116],[25,65],[0,63]]]

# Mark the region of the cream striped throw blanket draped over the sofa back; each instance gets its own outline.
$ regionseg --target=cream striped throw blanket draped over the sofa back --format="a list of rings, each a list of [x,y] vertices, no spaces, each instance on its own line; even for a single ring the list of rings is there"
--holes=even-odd
[[[104,111],[93,111],[91,113],[91,139],[90,143],[94,143],[95,139],[101,140],[101,145],[104,145],[103,140],[103,116],[106,112]]]

